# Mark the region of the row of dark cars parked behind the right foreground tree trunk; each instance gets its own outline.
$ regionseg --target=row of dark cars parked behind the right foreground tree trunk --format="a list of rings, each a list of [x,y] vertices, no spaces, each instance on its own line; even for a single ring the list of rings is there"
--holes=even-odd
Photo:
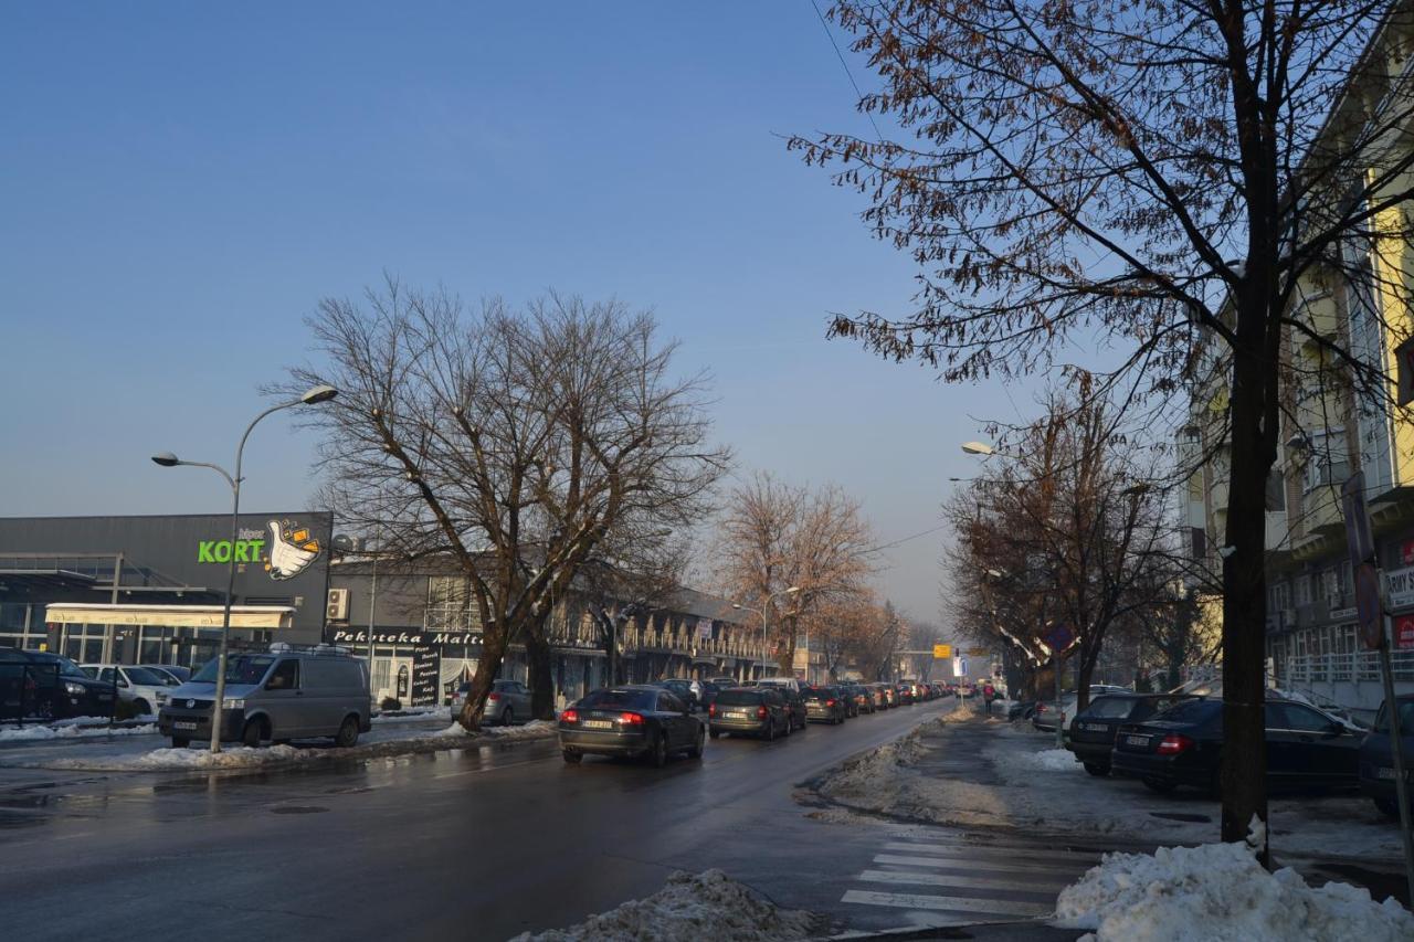
[[[1396,699],[1404,754],[1414,755],[1414,694]],[[1398,816],[1389,704],[1374,727],[1268,692],[1270,792],[1356,791]],[[1052,727],[1053,728],[1053,727]],[[1182,693],[1106,692],[1075,713],[1066,747],[1092,775],[1135,778],[1151,791],[1222,791],[1223,702]],[[1408,774],[1408,772],[1406,772]]]

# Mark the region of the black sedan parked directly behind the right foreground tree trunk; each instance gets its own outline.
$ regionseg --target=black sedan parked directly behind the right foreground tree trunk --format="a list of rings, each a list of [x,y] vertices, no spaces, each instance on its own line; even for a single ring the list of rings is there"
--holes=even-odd
[[[1304,703],[1268,700],[1267,789],[1355,788],[1360,733]],[[1179,785],[1220,792],[1223,703],[1186,700],[1135,724],[1121,726],[1110,771],[1155,792]]]

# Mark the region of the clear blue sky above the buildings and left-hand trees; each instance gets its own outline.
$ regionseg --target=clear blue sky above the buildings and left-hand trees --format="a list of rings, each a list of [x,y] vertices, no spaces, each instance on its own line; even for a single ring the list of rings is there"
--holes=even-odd
[[[824,339],[913,290],[860,198],[785,150],[867,133],[853,102],[809,0],[6,4],[0,513],[222,509],[147,455],[230,461],[318,298],[387,270],[652,307],[742,471],[839,482],[881,540],[923,530],[974,470],[973,416],[1031,393]],[[263,424],[245,505],[303,506],[310,444]],[[880,577],[925,618],[940,539]]]

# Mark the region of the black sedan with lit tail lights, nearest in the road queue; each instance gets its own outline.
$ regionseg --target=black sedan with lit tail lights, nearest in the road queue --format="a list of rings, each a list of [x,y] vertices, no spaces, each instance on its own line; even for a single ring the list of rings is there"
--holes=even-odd
[[[594,690],[560,714],[566,762],[585,755],[641,755],[662,768],[673,752],[701,758],[703,721],[672,690],[624,686]]]

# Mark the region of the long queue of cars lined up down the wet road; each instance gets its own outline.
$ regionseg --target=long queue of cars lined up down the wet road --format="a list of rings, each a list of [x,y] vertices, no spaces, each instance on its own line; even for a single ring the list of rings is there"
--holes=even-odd
[[[942,685],[919,680],[812,686],[796,678],[669,679],[594,690],[564,710],[557,726],[566,762],[578,764],[585,755],[624,755],[662,767],[679,752],[700,758],[708,737],[771,741],[805,730],[809,723],[839,726],[864,713],[940,696]]]

